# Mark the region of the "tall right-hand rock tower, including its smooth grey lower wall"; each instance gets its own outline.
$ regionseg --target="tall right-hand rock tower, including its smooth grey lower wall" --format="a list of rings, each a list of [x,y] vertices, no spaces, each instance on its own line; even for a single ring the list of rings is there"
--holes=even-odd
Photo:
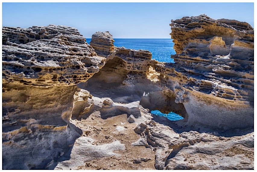
[[[170,26],[174,68],[188,92],[187,124],[253,126],[253,28],[206,15],[171,20]]]

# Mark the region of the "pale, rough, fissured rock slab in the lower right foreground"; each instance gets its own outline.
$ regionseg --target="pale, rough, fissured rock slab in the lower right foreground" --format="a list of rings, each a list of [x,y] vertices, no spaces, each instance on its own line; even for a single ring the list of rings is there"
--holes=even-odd
[[[229,138],[196,131],[177,133],[155,121],[139,124],[135,132],[141,137],[133,145],[156,150],[156,169],[254,169],[249,163],[253,161],[253,133]]]

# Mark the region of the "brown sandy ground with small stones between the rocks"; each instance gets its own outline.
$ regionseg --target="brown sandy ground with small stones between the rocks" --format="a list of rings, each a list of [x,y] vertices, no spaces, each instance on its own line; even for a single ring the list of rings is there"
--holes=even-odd
[[[125,150],[114,151],[119,156],[87,161],[84,166],[78,167],[79,170],[155,170],[155,151],[151,148],[145,148],[145,146],[131,145],[139,139],[139,135],[134,131],[136,124],[127,122],[126,114],[110,117],[105,120],[90,116],[85,120],[73,120],[73,122],[83,130],[83,136],[95,140],[93,143],[95,145],[103,145],[116,140],[125,145]],[[135,163],[134,160],[141,158],[144,158],[146,162]]]

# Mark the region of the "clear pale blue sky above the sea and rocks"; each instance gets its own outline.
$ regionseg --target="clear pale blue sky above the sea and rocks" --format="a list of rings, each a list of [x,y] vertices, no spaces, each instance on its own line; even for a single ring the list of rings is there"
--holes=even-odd
[[[253,27],[253,3],[3,3],[2,25],[49,24],[76,27],[86,38],[109,31],[114,38],[170,38],[170,20],[207,14],[246,21]]]

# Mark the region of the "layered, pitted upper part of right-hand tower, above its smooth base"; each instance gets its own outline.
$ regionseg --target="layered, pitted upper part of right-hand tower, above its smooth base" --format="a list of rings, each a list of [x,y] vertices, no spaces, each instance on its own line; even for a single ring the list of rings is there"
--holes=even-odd
[[[177,52],[172,58],[188,76],[187,89],[253,104],[254,31],[248,23],[200,15],[170,26]]]

